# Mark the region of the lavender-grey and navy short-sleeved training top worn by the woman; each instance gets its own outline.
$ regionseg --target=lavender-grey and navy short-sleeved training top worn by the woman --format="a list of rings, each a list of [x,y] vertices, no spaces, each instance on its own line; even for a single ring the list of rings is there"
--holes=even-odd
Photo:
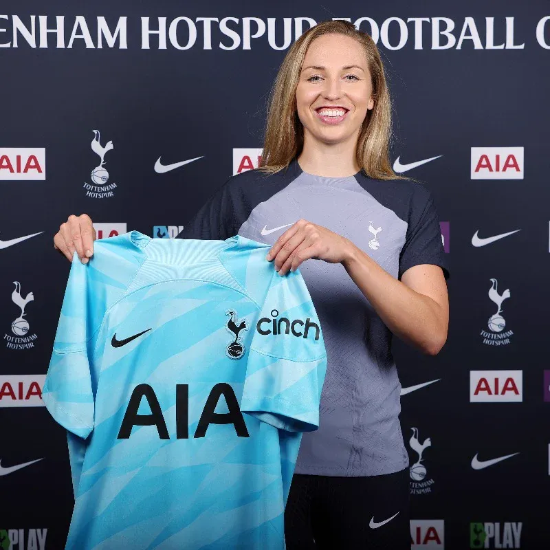
[[[439,265],[448,278],[437,210],[425,186],[304,172],[294,159],[276,174],[249,170],[225,182],[179,234],[272,244],[305,219],[352,241],[395,278]],[[374,476],[408,466],[399,426],[401,384],[392,333],[340,263],[307,260],[300,272],[321,322],[327,375],[320,427],[304,434],[297,474]]]

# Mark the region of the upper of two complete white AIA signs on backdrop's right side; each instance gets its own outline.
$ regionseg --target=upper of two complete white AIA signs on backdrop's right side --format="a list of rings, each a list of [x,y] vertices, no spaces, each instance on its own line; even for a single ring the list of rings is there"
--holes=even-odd
[[[472,147],[470,179],[523,179],[523,147]]]

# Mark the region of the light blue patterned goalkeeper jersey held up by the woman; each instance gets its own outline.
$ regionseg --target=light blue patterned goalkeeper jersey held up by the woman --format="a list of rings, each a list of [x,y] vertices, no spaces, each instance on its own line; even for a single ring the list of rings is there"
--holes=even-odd
[[[269,248],[134,231],[73,261],[43,391],[68,430],[67,549],[285,547],[327,358],[300,270]]]

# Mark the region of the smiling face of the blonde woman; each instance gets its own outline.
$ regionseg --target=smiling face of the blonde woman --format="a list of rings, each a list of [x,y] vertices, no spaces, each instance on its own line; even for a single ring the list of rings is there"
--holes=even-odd
[[[324,34],[307,50],[296,88],[305,140],[326,144],[358,138],[374,107],[371,73],[362,46],[343,34]]]

